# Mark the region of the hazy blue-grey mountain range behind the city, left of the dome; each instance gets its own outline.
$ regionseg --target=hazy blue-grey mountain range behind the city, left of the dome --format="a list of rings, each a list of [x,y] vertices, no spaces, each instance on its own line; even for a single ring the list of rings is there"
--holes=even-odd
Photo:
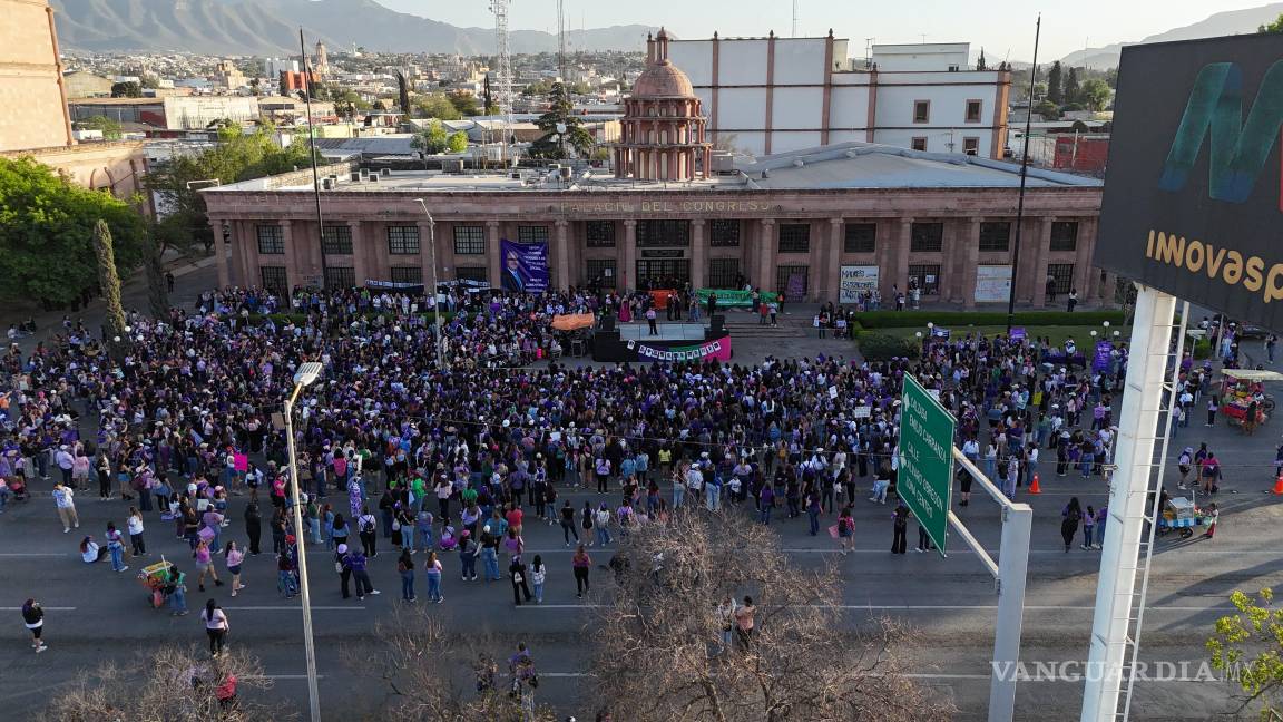
[[[480,1],[480,0],[473,0]],[[373,0],[50,0],[63,48],[94,51],[296,54],[308,42],[389,53],[494,53],[494,30],[455,27],[390,10]],[[575,31],[584,50],[644,50],[657,28],[630,24]],[[557,36],[509,33],[513,53],[548,53]]]

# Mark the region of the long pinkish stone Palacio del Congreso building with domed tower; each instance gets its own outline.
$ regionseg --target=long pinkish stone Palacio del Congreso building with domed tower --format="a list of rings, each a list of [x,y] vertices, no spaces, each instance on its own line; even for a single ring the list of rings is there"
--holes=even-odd
[[[561,289],[671,279],[729,288],[744,277],[789,301],[839,302],[843,274],[858,272],[884,298],[912,279],[926,301],[1006,301],[1017,166],[843,143],[715,171],[699,99],[668,60],[662,33],[635,89],[613,172],[331,166],[323,238],[310,171],[208,189],[219,284],[425,283],[435,231],[441,280],[494,286],[499,240],[508,239],[548,242],[550,281]],[[1098,180],[1029,171],[1017,301],[1042,304],[1048,277],[1057,293],[1074,288],[1084,302],[1112,295],[1112,279],[1091,266],[1100,204]]]

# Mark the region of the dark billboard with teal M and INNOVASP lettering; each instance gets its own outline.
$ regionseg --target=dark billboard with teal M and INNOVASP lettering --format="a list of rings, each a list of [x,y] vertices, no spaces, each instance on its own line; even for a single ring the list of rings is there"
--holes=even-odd
[[[1093,263],[1283,328],[1283,42],[1129,45]]]

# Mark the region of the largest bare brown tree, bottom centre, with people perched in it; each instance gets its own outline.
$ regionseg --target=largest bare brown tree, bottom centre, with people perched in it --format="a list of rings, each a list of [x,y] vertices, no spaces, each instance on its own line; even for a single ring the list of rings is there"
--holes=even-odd
[[[598,704],[615,718],[785,722],[947,719],[905,674],[903,630],[844,624],[833,565],[798,569],[769,528],[679,513],[622,542],[594,635]],[[752,635],[722,645],[718,603],[744,596]],[[734,637],[736,633],[733,632]]]

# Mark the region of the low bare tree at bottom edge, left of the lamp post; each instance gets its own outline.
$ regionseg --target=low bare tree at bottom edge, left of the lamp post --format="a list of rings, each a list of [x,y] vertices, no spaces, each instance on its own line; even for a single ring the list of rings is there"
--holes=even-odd
[[[231,701],[219,686],[235,677]],[[253,656],[227,651],[217,659],[196,647],[167,646],[132,664],[106,663],[83,672],[45,712],[50,722],[249,722],[294,719],[291,709],[246,700],[239,692],[267,690],[272,680]],[[226,689],[226,687],[225,687]]]

